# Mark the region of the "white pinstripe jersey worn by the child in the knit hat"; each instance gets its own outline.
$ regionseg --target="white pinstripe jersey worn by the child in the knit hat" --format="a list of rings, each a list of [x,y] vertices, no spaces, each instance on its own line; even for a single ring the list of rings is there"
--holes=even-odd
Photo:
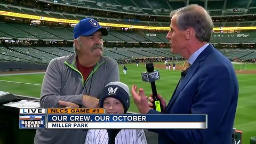
[[[85,144],[108,144],[108,133],[105,129],[88,130]],[[122,129],[115,138],[116,144],[147,144],[146,135],[141,129]]]

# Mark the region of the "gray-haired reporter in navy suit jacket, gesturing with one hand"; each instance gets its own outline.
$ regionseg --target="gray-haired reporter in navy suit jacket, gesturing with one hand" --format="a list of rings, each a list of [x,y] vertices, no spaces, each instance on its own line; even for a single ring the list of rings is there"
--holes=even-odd
[[[154,129],[158,143],[231,143],[238,99],[238,82],[231,62],[209,44],[210,15],[198,5],[171,12],[171,52],[182,55],[190,67],[181,77],[164,114],[208,114],[208,129]],[[143,89],[132,86],[132,97],[142,114],[161,114],[150,108]],[[149,100],[152,102],[151,97]]]

